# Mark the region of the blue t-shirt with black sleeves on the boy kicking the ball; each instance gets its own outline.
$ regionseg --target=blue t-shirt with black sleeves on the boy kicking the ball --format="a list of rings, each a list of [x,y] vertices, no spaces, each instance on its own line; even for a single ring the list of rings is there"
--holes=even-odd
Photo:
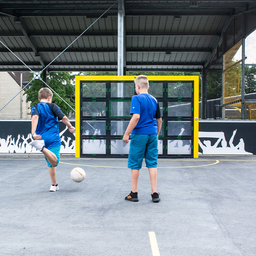
[[[39,116],[36,134],[42,136],[45,148],[60,147],[59,121],[65,114],[54,103],[40,102],[31,107],[31,116]]]

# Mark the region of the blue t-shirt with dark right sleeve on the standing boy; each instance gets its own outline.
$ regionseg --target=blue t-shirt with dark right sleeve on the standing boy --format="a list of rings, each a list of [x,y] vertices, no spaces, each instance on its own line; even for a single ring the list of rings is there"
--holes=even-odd
[[[156,98],[148,93],[132,96],[130,114],[140,115],[140,119],[132,133],[157,134],[156,118],[161,117],[161,112]]]

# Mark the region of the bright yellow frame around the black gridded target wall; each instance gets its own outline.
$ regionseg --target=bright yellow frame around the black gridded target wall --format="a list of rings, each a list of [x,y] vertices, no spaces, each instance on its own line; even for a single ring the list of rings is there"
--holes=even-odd
[[[136,77],[136,76],[135,76]],[[80,81],[133,81],[134,76],[76,76],[76,157],[80,157]],[[194,81],[194,158],[198,158],[199,76],[147,76],[149,81]],[[197,93],[196,93],[197,92]],[[196,120],[197,119],[197,120]]]

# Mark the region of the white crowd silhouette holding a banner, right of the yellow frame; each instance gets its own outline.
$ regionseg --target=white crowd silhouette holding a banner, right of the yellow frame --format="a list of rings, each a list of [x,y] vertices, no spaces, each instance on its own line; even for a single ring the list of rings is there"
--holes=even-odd
[[[233,132],[229,140],[229,146],[225,139],[224,132],[198,132],[199,138],[218,138],[216,143],[212,146],[210,140],[204,140],[203,143],[198,139],[198,144],[203,150],[203,155],[252,155],[250,152],[244,150],[244,140],[241,138],[240,142],[234,146],[233,140],[236,135],[236,130]],[[218,147],[221,141],[221,147]]]

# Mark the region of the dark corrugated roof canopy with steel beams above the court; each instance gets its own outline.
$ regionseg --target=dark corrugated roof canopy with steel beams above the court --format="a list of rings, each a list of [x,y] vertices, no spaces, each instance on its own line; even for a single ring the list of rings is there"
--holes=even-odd
[[[201,70],[228,50],[230,33],[234,43],[252,32],[255,10],[256,1],[245,0],[124,0],[124,67]],[[117,71],[117,11],[111,0],[2,0],[0,70],[42,70],[106,12],[47,70]]]

